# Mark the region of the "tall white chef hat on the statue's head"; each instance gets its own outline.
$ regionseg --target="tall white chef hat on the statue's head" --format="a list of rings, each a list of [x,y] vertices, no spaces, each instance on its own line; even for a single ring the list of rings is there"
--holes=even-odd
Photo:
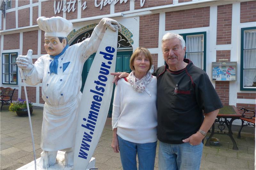
[[[73,29],[73,24],[62,17],[39,17],[36,21],[45,37],[67,37]]]

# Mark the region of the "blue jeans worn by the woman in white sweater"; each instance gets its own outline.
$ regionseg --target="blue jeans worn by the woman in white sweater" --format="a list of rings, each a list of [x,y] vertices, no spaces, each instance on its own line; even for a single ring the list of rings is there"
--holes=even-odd
[[[124,140],[118,135],[117,138],[124,170],[137,170],[137,153],[139,159],[139,170],[154,170],[156,142],[138,144]]]

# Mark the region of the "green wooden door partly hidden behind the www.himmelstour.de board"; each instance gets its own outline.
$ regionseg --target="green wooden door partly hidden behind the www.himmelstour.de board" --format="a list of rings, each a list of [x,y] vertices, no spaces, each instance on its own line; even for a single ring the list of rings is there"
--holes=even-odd
[[[84,89],[84,83],[85,80],[87,78],[87,75],[89,73],[89,70],[91,68],[92,65],[92,61],[94,59],[96,53],[92,54],[84,63],[84,68],[83,68],[83,72],[82,72],[82,87],[81,87],[81,92],[83,93],[83,89]],[[116,70],[115,72],[127,72],[130,73],[131,69],[130,69],[130,57],[132,55],[132,51],[117,51],[116,53]],[[111,117],[112,115],[112,109],[113,109],[113,99],[114,99],[114,91],[115,91],[115,84],[113,87],[113,92],[112,92],[112,98],[111,98],[111,102],[110,102],[110,107],[108,110],[108,117]]]

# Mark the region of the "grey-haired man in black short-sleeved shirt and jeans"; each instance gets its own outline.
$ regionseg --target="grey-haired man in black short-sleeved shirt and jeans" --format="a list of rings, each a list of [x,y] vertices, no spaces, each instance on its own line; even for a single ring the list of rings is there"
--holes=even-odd
[[[157,77],[158,167],[196,170],[202,141],[223,106],[204,70],[184,59],[186,45],[179,34],[165,34],[162,50],[166,65],[153,73]]]

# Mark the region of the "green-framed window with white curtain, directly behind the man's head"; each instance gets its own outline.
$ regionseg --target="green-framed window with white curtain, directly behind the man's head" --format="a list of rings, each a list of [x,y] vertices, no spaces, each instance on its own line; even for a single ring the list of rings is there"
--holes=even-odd
[[[185,58],[205,71],[206,65],[206,32],[180,34],[186,42]]]

